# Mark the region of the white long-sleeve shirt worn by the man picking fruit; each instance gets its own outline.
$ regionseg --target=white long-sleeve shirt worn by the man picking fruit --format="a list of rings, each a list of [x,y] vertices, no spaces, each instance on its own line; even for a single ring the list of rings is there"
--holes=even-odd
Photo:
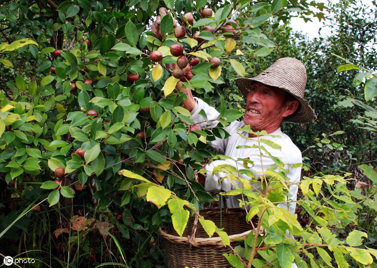
[[[202,101],[201,99],[195,98],[196,104],[194,109],[191,111],[191,119],[194,123],[202,122],[204,121],[204,118],[199,115],[199,112],[203,109],[205,111],[205,114],[207,115],[208,120],[214,120],[219,116],[219,112],[209,106],[207,103]],[[209,124],[204,122],[198,124],[202,129],[204,128],[210,128],[215,127],[218,124],[218,121],[210,121]],[[254,140],[245,139],[242,138],[240,135],[237,134],[237,132],[241,133],[242,136],[248,137],[248,133],[239,130],[239,128],[242,128],[245,126],[245,123],[240,121],[233,121],[229,126],[227,126],[225,129],[230,134],[230,137],[226,139],[220,139],[216,138],[215,141],[209,142],[211,147],[213,147],[219,154],[230,156],[234,159],[237,158],[250,158],[251,161],[254,161],[253,167],[250,167],[249,170],[253,172],[255,178],[259,178],[260,176],[263,176],[263,173],[261,173],[262,170],[267,170],[270,165],[273,165],[273,160],[267,156],[265,153],[265,156],[262,156],[262,162],[261,162],[261,154],[259,152],[259,148],[247,148],[247,149],[236,149],[237,145],[258,145],[257,138]],[[279,149],[273,149],[267,144],[261,144],[265,147],[265,149],[271,153],[272,156],[276,156],[279,158],[282,162],[284,162],[285,169],[289,168],[289,172],[287,174],[287,177],[289,178],[289,181],[299,182],[300,181],[300,174],[301,174],[301,167],[292,167],[292,164],[298,164],[302,163],[302,156],[300,150],[297,148],[296,145],[293,144],[291,139],[282,133],[282,131],[277,129],[273,133],[270,133],[270,135],[278,135],[281,138],[276,138],[272,136],[260,136],[260,138],[269,139],[273,141],[274,143],[277,143],[281,146],[281,150]],[[231,159],[226,160],[216,160],[211,162],[206,166],[207,174],[205,179],[205,186],[204,188],[207,191],[211,192],[219,192],[221,190],[228,191],[237,187],[240,187],[239,182],[233,181],[234,186],[231,184],[230,180],[228,178],[223,179],[220,183],[219,180],[222,177],[225,177],[224,173],[219,173],[218,175],[213,175],[212,170],[218,165],[221,164],[230,164],[236,167],[236,162]],[[263,168],[262,168],[263,164]],[[244,168],[242,161],[239,161],[237,164],[238,168]],[[242,175],[244,178],[245,176]],[[261,183],[257,182],[252,184],[256,189],[261,190]],[[290,185],[289,186],[289,196],[286,196],[286,200],[289,199],[291,201],[297,200],[297,185]],[[226,196],[227,198],[227,205],[228,207],[239,207],[239,201],[237,199],[240,199],[239,196]],[[282,203],[278,205],[279,207],[286,208],[289,210],[292,214],[294,214],[294,211],[296,209],[296,203],[291,202],[288,206],[287,203]]]

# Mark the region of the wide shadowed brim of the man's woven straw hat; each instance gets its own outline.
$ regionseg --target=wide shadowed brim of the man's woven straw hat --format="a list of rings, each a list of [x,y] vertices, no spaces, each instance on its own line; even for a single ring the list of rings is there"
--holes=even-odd
[[[247,97],[249,93],[249,89],[251,85],[253,84],[253,82],[260,82],[267,86],[279,87],[280,89],[294,96],[297,99],[297,101],[299,101],[300,106],[296,110],[296,112],[284,118],[285,121],[300,124],[300,123],[311,122],[317,118],[316,113],[314,112],[313,108],[310,106],[307,100],[304,100],[300,96],[297,96],[296,94],[294,94],[294,92],[291,92],[291,90],[289,89],[286,89],[282,86],[277,86],[276,83],[274,83],[273,81],[266,81],[264,79],[259,79],[258,77],[254,77],[254,78],[241,77],[241,78],[236,78],[234,82],[236,83],[236,86],[238,87],[238,89],[241,91],[242,95],[244,95],[245,98]]]

